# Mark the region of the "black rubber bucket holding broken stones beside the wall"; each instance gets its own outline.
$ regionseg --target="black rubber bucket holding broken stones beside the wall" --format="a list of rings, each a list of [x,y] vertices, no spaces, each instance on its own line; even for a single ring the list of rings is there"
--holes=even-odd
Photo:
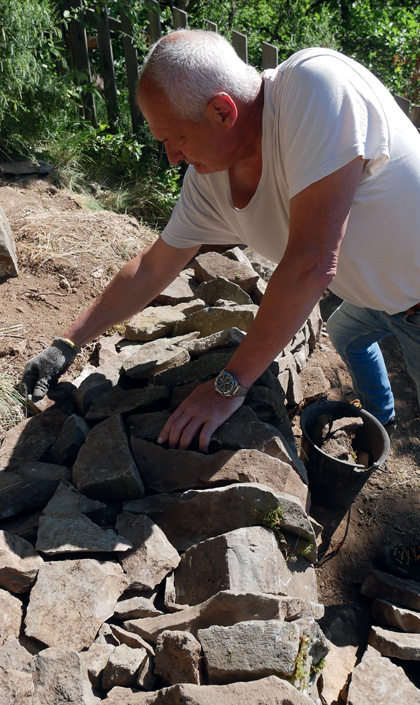
[[[328,414],[333,421],[348,416],[361,416],[363,425],[357,429],[353,447],[369,456],[369,467],[338,460],[321,448],[320,416]],[[319,402],[303,411],[301,459],[309,481],[312,501],[324,507],[349,507],[374,470],[381,467],[389,453],[389,437],[382,424],[364,409],[346,402]]]

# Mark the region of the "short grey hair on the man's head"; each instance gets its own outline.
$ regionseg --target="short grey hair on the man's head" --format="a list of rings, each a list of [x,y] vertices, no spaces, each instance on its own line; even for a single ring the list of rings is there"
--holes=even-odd
[[[140,73],[162,89],[182,118],[200,122],[216,93],[252,102],[261,87],[258,71],[239,58],[216,32],[180,29],[159,39],[150,49]]]

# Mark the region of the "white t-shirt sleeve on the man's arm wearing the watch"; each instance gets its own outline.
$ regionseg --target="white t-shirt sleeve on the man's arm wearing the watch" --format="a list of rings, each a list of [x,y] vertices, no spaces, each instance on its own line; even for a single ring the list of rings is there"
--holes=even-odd
[[[279,120],[290,198],[358,156],[369,160],[369,174],[389,159],[388,123],[375,87],[339,57],[311,57],[286,69]]]

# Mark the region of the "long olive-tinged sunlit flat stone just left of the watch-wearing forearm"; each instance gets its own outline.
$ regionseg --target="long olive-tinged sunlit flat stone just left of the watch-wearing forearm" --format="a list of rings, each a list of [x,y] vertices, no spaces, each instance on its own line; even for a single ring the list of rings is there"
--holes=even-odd
[[[258,306],[255,304],[241,304],[226,308],[225,306],[209,306],[200,311],[191,313],[185,320],[177,323],[174,328],[175,335],[184,335],[192,331],[200,331],[204,338],[225,328],[239,328],[247,332],[255,316]]]

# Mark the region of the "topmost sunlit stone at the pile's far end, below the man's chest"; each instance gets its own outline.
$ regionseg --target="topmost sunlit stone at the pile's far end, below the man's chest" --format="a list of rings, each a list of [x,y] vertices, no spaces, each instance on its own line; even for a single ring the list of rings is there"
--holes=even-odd
[[[241,287],[248,294],[258,280],[258,274],[249,264],[235,262],[218,252],[206,252],[194,260],[194,275],[197,281],[205,282],[224,277]]]

